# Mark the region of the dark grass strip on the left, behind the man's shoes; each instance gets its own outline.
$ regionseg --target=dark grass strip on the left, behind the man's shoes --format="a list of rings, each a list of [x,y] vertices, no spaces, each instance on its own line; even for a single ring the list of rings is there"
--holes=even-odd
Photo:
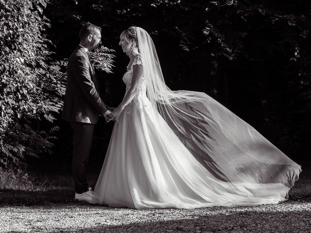
[[[55,203],[77,203],[74,200],[74,186],[70,174],[32,174],[16,175],[8,173],[6,183],[0,187],[0,206],[34,206]],[[88,181],[93,187],[97,174],[88,174]],[[85,204],[85,203],[84,203]]]

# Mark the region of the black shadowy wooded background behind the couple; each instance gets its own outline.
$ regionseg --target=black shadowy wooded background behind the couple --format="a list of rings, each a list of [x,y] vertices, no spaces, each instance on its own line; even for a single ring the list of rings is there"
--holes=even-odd
[[[311,5],[307,0],[50,0],[44,15],[53,59],[69,58],[84,22],[102,27],[104,46],[116,50],[113,74],[97,71],[109,106],[123,98],[128,57],[120,33],[149,32],[167,85],[207,93],[251,124],[297,162],[309,160],[311,141]],[[54,154],[29,159],[35,170],[69,172],[71,130],[61,130]],[[100,169],[113,123],[96,125],[90,167]]]

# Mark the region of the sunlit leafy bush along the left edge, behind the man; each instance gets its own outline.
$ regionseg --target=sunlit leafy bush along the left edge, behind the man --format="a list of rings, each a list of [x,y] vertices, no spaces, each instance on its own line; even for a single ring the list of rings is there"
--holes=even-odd
[[[52,153],[53,122],[62,106],[64,62],[51,63],[46,0],[0,0],[0,165]]]

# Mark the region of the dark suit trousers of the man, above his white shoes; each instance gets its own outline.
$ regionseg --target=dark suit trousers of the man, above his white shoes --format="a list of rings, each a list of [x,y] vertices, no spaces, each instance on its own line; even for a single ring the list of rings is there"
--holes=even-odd
[[[86,166],[91,150],[94,124],[70,122],[73,129],[72,175],[76,193],[88,191]]]

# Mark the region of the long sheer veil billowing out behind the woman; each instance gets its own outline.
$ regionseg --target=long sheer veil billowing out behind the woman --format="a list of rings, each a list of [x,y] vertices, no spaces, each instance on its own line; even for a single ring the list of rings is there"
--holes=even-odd
[[[136,33],[148,99],[197,161],[225,182],[294,185],[301,166],[207,94],[170,90],[150,35]]]

